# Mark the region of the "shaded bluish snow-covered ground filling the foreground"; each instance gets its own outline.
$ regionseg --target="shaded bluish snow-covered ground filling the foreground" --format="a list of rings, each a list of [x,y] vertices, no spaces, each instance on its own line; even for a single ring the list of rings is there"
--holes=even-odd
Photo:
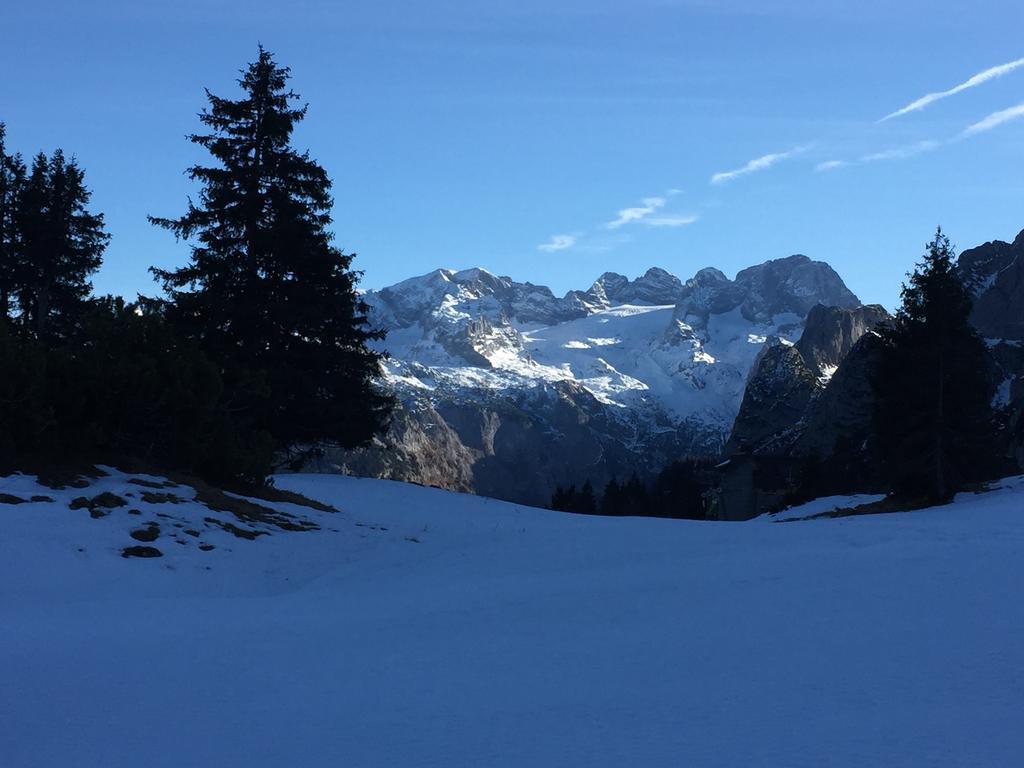
[[[253,541],[128,480],[0,478],[53,499],[0,504],[4,768],[1024,758],[1024,478],[729,524],[291,475],[340,512]],[[69,509],[102,490],[129,504]],[[121,557],[150,521],[164,556]]]

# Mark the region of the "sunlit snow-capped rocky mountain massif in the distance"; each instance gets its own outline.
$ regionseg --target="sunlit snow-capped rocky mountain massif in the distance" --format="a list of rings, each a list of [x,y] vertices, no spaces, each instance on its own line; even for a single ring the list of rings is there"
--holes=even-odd
[[[606,272],[562,297],[437,269],[365,298],[401,408],[379,444],[328,463],[535,504],[559,483],[718,451],[766,341],[796,342],[816,304],[860,305],[806,256],[735,280]]]

